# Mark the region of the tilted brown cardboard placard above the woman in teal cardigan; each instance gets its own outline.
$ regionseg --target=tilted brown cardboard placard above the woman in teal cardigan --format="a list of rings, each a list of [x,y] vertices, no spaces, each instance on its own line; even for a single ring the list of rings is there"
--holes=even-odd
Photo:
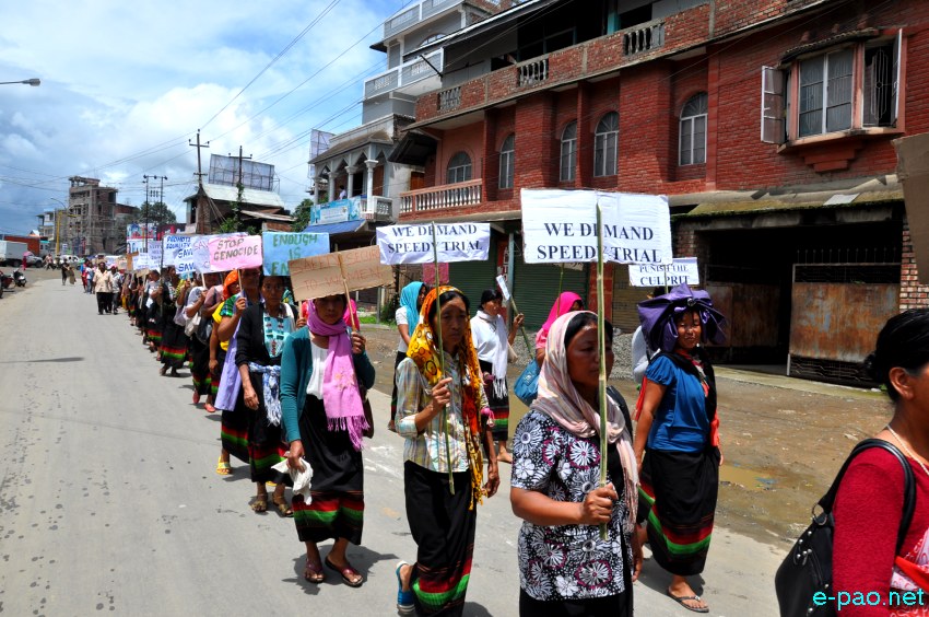
[[[297,300],[345,293],[346,284],[349,291],[355,291],[393,282],[393,270],[380,263],[377,246],[305,257],[289,266]]]

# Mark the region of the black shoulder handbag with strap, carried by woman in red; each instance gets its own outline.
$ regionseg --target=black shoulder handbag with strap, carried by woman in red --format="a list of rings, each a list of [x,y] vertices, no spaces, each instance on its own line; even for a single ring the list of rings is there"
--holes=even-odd
[[[896,540],[896,552],[899,554],[916,508],[916,481],[913,469],[895,445],[879,439],[867,439],[855,446],[830,490],[816,503],[821,509],[819,514],[816,514],[816,507],[813,507],[813,522],[800,535],[774,575],[774,589],[777,593],[777,603],[780,605],[781,617],[836,615],[835,590],[832,586],[832,544],[835,533],[832,509],[848,465],[858,454],[872,447],[886,450],[896,456],[903,466],[903,516]]]

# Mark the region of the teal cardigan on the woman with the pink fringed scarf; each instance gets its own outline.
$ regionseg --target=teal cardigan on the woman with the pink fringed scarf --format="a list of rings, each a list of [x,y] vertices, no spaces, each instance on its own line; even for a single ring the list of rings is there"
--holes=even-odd
[[[374,385],[374,366],[367,353],[353,357],[355,375],[365,388]],[[281,352],[281,424],[287,443],[301,439],[299,417],[306,403],[306,386],[313,375],[309,329],[301,328],[284,340]]]

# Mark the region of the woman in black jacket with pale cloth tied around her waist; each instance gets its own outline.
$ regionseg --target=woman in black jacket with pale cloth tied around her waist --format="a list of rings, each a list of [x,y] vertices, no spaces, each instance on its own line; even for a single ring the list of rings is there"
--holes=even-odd
[[[304,323],[295,323],[295,310],[281,302],[283,277],[263,277],[259,288],[262,302],[245,310],[236,334],[235,363],[242,392],[235,412],[247,419],[249,469],[257,490],[251,509],[268,510],[266,484],[274,481],[274,508],[281,516],[291,516],[293,511],[284,498],[286,487],[271,467],[286,455],[281,442],[281,353],[284,340]]]

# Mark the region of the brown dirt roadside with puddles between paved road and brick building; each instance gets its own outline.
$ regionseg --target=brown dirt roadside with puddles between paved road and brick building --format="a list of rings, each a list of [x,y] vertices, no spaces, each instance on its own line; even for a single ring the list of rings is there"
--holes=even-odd
[[[397,333],[364,326],[377,385],[390,394]],[[510,383],[519,370],[510,370]],[[810,522],[858,441],[877,433],[891,408],[880,393],[719,369],[720,469],[716,523],[785,550]],[[632,407],[636,387],[611,380]],[[510,397],[510,431],[525,407]],[[504,470],[507,473],[507,470]]]

